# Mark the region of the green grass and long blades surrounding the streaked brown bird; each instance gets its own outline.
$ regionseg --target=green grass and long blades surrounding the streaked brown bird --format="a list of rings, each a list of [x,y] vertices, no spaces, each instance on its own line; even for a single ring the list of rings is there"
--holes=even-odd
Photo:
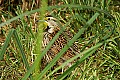
[[[63,2],[63,5],[58,6],[59,1]],[[44,3],[46,7],[37,9],[34,6],[30,11],[23,11],[22,7],[18,6],[15,13],[17,16],[15,17],[10,13],[10,6],[8,7],[9,13],[1,11],[0,14],[6,19],[6,22],[0,20],[2,22],[0,24],[0,35],[5,35],[6,39],[4,45],[0,45],[0,79],[119,80],[120,13],[111,9],[114,5],[113,1],[59,1],[53,1],[53,3],[56,3],[55,6],[48,5],[47,7]],[[34,2],[31,2],[31,4],[33,6]],[[42,28],[37,27],[35,20],[43,19],[46,11],[58,19],[61,30],[41,52],[39,47],[41,47],[43,31]],[[38,14],[36,16],[36,12],[40,13],[40,18],[37,18]],[[13,23],[15,29],[13,29]],[[39,25],[42,25],[42,23]],[[45,69],[38,71],[40,60],[66,27],[70,28],[74,36],[72,39],[67,39],[68,43]],[[52,71],[51,67],[74,42],[80,45],[80,54]],[[64,68],[66,64],[77,58],[79,59],[65,72],[59,76],[54,76],[59,69]]]

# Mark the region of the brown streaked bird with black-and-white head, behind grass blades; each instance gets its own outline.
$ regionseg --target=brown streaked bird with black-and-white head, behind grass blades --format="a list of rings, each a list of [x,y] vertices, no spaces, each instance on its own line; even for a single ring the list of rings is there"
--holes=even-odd
[[[46,28],[44,28],[43,41],[42,45],[45,49],[49,42],[53,39],[53,37],[60,31],[60,27],[58,25],[57,19],[54,17],[46,17],[45,23],[47,24]],[[47,51],[46,55],[42,59],[42,69],[47,66],[47,64],[52,61],[52,59],[62,50],[62,48],[67,44],[68,40],[70,40],[74,34],[71,32],[69,27],[66,27],[65,31],[59,35],[58,39],[53,43],[51,48]],[[74,57],[76,54],[79,54],[79,45],[74,43],[64,54],[63,56],[56,62],[53,69],[62,65],[66,60]],[[69,63],[66,66],[66,69],[72,65],[73,62]]]

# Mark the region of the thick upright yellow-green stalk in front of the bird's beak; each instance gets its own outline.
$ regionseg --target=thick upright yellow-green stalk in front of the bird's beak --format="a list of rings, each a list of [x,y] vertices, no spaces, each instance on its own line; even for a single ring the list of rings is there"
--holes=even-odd
[[[45,18],[45,13],[47,10],[47,0],[42,0],[41,6],[40,6],[40,21],[38,23],[38,32],[36,35],[36,45],[35,45],[35,54],[36,54],[36,58],[38,57],[38,55],[41,54],[42,51],[42,41],[43,41],[43,28],[45,27],[44,25],[44,18]],[[35,68],[35,76],[37,77],[37,75],[40,73],[40,64],[41,63],[41,59],[40,61],[37,61],[36,64],[36,68]],[[35,78],[36,79],[36,78]]]

